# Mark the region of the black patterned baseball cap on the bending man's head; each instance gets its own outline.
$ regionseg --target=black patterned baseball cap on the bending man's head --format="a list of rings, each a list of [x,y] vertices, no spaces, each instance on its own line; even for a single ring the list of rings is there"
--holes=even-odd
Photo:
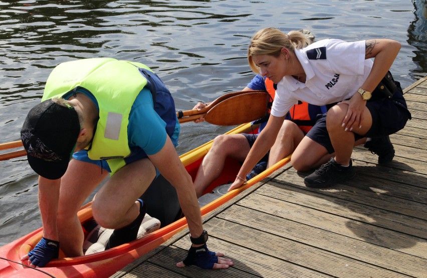
[[[21,129],[21,140],[33,170],[48,179],[62,177],[79,132],[79,117],[72,106],[52,99],[34,106]]]

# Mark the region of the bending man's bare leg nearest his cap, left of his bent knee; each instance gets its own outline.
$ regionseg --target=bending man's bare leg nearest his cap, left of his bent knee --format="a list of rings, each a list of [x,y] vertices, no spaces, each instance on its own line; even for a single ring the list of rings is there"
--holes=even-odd
[[[72,159],[61,179],[58,232],[61,249],[67,256],[83,255],[84,234],[77,211],[107,175],[95,164]]]

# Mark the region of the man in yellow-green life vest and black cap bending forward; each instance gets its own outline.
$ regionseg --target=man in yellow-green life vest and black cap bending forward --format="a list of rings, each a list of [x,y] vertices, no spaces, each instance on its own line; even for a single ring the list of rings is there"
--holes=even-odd
[[[94,219],[115,229],[107,248],[135,239],[146,211],[137,198],[160,173],[175,187],[190,230],[192,245],[177,266],[233,265],[206,247],[191,177],[175,151],[178,135],[173,98],[146,65],[89,58],[55,67],[21,129],[39,174],[43,221],[43,238],[22,260],[43,267],[58,257],[60,242],[66,256],[83,255],[77,211],[109,172],[92,202]]]

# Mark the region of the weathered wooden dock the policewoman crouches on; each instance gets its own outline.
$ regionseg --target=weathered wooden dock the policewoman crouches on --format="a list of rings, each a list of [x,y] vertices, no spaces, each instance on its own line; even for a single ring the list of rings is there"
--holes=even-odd
[[[114,277],[427,277],[427,77],[405,98],[412,119],[390,135],[389,164],[356,147],[356,177],[329,189],[287,165],[207,215],[208,247],[233,267],[176,267],[185,229]]]

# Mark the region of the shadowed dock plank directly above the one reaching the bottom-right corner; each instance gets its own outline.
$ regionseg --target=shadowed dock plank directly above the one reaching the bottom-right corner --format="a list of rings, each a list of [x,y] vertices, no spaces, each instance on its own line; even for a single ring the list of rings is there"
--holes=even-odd
[[[272,191],[271,195],[276,196],[275,194],[280,190]],[[427,253],[425,252],[427,240],[425,239],[402,234],[390,228],[382,228],[376,225],[377,221],[381,222],[381,219],[376,218],[375,215],[360,213],[359,215],[361,216],[359,219],[352,219],[341,216],[342,213],[332,214],[324,212],[310,202],[305,201],[305,198],[304,196],[303,199],[290,197],[279,199],[252,193],[240,200],[238,204],[295,222],[363,240],[371,244],[427,258]],[[308,206],[305,205],[307,203]],[[326,202],[324,203],[326,204]],[[349,211],[349,209],[343,206],[341,208]],[[369,221],[371,223],[368,223]]]

